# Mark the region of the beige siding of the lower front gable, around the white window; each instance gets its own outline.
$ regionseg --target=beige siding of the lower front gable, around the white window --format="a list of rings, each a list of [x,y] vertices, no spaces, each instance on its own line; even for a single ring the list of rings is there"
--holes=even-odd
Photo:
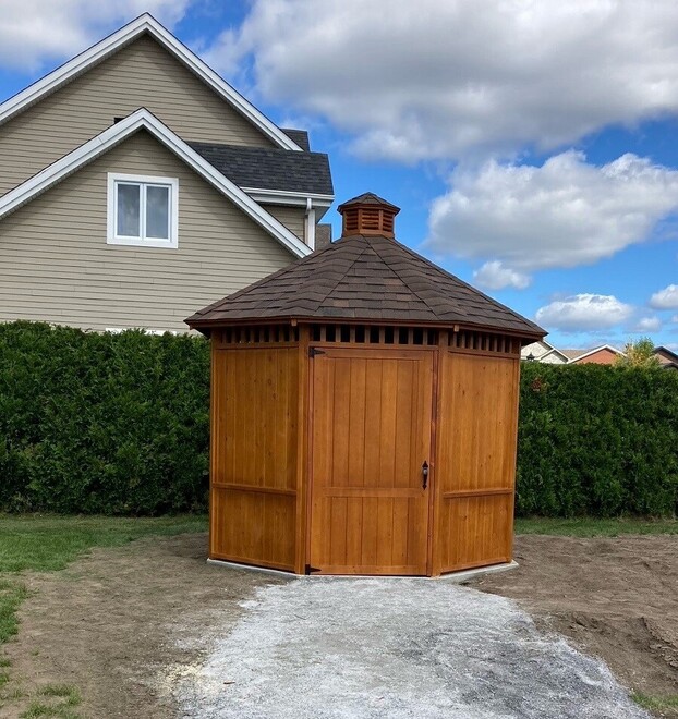
[[[107,173],[179,179],[179,248],[106,243]],[[0,220],[0,321],[185,331],[294,257],[142,131]]]

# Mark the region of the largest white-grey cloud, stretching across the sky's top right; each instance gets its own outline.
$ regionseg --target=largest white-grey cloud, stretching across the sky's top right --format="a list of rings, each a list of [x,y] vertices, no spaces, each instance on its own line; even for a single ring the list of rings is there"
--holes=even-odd
[[[253,0],[207,59],[365,156],[542,150],[678,110],[674,0]]]

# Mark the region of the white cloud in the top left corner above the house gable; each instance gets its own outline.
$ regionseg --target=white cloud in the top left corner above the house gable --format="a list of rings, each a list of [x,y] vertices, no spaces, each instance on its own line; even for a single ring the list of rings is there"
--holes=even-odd
[[[71,58],[143,12],[172,26],[191,0],[2,0],[0,65],[35,71]]]

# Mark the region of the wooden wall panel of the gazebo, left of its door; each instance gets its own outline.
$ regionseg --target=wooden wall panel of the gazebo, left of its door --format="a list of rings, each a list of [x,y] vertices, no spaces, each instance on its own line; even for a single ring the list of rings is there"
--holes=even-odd
[[[213,352],[210,557],[294,570],[296,346]]]

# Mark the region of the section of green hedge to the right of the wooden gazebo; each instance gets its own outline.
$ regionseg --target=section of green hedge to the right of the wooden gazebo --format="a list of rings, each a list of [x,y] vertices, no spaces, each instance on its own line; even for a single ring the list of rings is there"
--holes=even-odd
[[[674,515],[678,373],[523,363],[518,514]]]

